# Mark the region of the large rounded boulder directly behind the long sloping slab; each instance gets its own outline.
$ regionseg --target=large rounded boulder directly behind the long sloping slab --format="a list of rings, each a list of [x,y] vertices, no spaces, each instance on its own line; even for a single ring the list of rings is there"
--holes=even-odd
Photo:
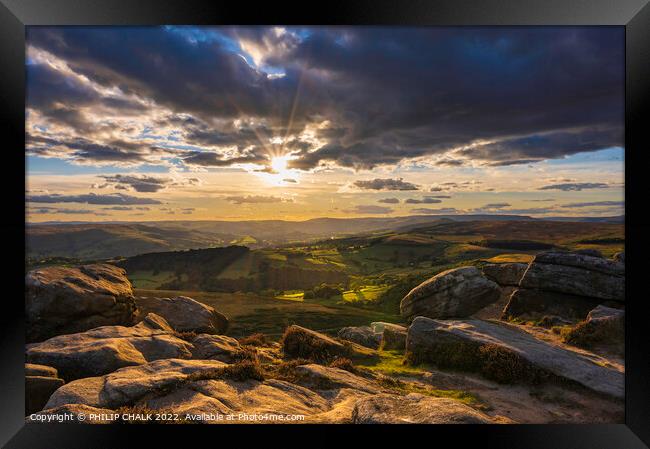
[[[499,299],[499,286],[476,267],[444,271],[411,290],[400,303],[402,316],[464,318]]]

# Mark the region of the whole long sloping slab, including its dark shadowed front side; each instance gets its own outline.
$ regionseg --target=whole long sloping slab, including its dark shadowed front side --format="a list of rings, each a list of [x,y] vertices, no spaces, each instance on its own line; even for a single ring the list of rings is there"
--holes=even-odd
[[[418,317],[409,327],[406,350],[411,360],[480,372],[499,382],[563,379],[624,396],[624,374],[598,364],[597,356],[547,343],[506,323]]]

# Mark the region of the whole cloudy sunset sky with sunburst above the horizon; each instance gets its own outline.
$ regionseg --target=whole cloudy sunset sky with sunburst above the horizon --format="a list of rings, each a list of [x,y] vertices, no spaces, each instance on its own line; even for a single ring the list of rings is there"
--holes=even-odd
[[[27,216],[624,213],[622,27],[28,27]]]

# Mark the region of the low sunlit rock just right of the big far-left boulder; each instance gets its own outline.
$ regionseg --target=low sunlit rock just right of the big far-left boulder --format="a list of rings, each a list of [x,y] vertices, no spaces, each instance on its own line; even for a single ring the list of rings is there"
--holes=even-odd
[[[214,308],[187,296],[175,298],[136,297],[137,318],[155,313],[180,332],[223,334],[228,329],[228,318]]]

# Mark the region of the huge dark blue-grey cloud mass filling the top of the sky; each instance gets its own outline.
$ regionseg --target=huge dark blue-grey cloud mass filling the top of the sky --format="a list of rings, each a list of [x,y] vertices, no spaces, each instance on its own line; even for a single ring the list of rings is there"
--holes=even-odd
[[[450,151],[435,163],[471,159],[503,166],[621,146],[623,37],[621,29],[596,27],[27,32],[31,47],[92,82],[188,114],[179,125],[187,127],[187,143],[256,151],[192,153],[184,160],[190,165],[265,165],[265,139],[329,121],[315,132],[324,145],[290,144],[295,158],[289,165],[298,169],[323,163],[371,169]],[[261,55],[259,66],[249,47]],[[281,76],[267,76],[271,68]],[[47,67],[30,65],[27,72],[28,107],[79,134],[89,129],[80,106],[99,103],[125,114],[140,107],[126,97],[105,98]],[[255,119],[259,130],[212,125],[241,118]],[[110,156],[103,160],[115,160]]]

